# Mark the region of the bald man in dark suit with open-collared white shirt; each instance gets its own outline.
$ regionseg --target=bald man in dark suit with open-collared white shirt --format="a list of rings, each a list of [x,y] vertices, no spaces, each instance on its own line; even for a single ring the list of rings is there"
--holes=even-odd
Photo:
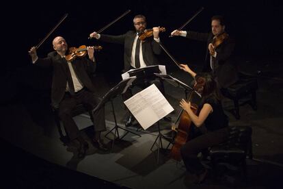
[[[70,113],[78,104],[82,103],[89,110],[93,110],[100,102],[100,99],[94,95],[96,88],[88,75],[88,71],[96,68],[94,47],[87,47],[88,58],[80,57],[72,61],[66,60],[68,45],[62,36],[53,39],[53,49],[55,51],[49,53],[46,58],[38,58],[36,47],[31,47],[29,55],[33,64],[53,67],[51,103],[58,112],[70,141],[79,145],[78,156],[83,157],[88,144],[81,136]],[[95,131],[93,142],[99,149],[105,151],[107,150],[105,144],[100,140],[100,132],[105,131],[104,108],[90,116],[92,116]]]

